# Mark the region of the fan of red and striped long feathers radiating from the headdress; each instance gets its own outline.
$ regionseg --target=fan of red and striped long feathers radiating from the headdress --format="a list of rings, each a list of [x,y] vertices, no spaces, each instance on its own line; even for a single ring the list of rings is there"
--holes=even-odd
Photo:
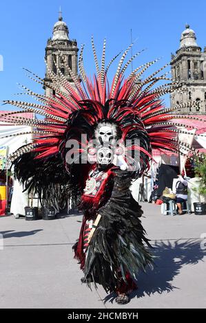
[[[70,67],[68,66],[67,68],[73,80],[73,85],[68,82],[57,65],[55,74],[54,71],[52,71],[52,69],[50,69],[50,67],[46,63],[48,68],[48,78],[50,78],[52,82],[50,82],[48,79],[39,78],[39,76],[32,73],[32,71],[25,69],[25,71],[28,73],[29,78],[39,83],[40,85],[43,85],[44,87],[49,87],[56,93],[50,98],[48,96],[45,96],[44,94],[34,93],[27,87],[21,85],[28,96],[32,96],[32,98],[41,102],[42,104],[14,100],[3,101],[4,104],[11,104],[21,109],[25,109],[25,111],[45,116],[45,120],[30,120],[28,118],[18,116],[19,114],[23,113],[23,111],[0,114],[1,122],[6,122],[8,124],[28,124],[29,126],[34,126],[37,129],[35,131],[32,131],[32,133],[35,134],[34,146],[30,144],[27,148],[19,149],[16,155],[15,153],[12,154],[11,159],[14,160],[14,158],[19,157],[19,155],[28,153],[32,150],[36,151],[37,155],[39,152],[39,155],[42,158],[45,158],[47,154],[48,156],[50,156],[52,153],[55,155],[60,150],[62,152],[64,145],[63,142],[65,142],[65,137],[67,136],[68,129],[70,129],[69,124],[72,122],[74,115],[78,115],[78,113],[81,113],[84,120],[87,120],[90,126],[95,126],[95,124],[103,118],[112,118],[112,120],[116,120],[116,122],[119,122],[119,126],[122,131],[124,131],[124,137],[132,133],[135,128],[135,126],[128,126],[127,122],[129,122],[130,124],[130,120],[133,120],[133,118],[139,118],[140,127],[143,127],[143,129],[145,129],[149,137],[151,135],[151,143],[154,148],[163,148],[163,140],[165,140],[166,148],[169,147],[169,149],[173,151],[178,151],[178,148],[181,147],[181,143],[174,140],[174,135],[176,135],[177,133],[186,134],[188,132],[179,130],[178,127],[182,126],[183,124],[178,123],[175,120],[178,118],[185,120],[194,120],[195,128],[195,121],[201,121],[201,119],[186,115],[178,115],[174,112],[178,111],[178,109],[196,107],[197,103],[188,102],[186,104],[177,104],[175,107],[169,109],[164,108],[163,101],[160,98],[164,96],[165,93],[172,93],[173,91],[181,92],[181,89],[178,89],[178,87],[180,87],[180,84],[178,82],[167,82],[164,85],[160,85],[154,88],[156,82],[160,80],[171,81],[171,78],[167,77],[167,74],[169,72],[165,72],[165,74],[157,76],[157,74],[165,69],[167,65],[164,65],[157,71],[154,71],[147,78],[142,79],[144,72],[154,63],[156,63],[158,59],[152,60],[149,63],[145,63],[140,67],[137,67],[125,80],[123,80],[123,74],[127,67],[130,65],[130,63],[132,63],[136,56],[143,52],[140,51],[136,53],[134,56],[132,56],[132,58],[127,60],[127,63],[125,63],[125,65],[123,65],[125,57],[127,56],[128,52],[130,52],[132,45],[133,44],[127,47],[125,52],[123,52],[117,66],[116,73],[114,74],[111,87],[109,87],[108,85],[107,72],[109,71],[109,68],[114,60],[116,60],[121,52],[114,58],[112,58],[109,65],[107,65],[107,67],[105,68],[104,41],[100,69],[96,56],[93,37],[92,50],[94,54],[94,63],[96,65],[97,74],[96,76],[94,76],[93,82],[85,74],[85,69],[83,66],[83,47],[81,48],[79,57],[79,70],[81,72],[83,83],[81,83],[81,80],[74,75],[72,69],[70,69]],[[61,56],[61,58],[63,60],[63,63],[66,65],[67,63],[64,56]],[[82,102],[86,102],[87,100],[96,102],[96,105],[93,104],[92,114],[87,112],[90,111],[90,107],[87,107],[86,104],[82,104]],[[106,102],[108,102],[107,109],[104,108]],[[125,120],[125,122],[123,122],[123,120]],[[205,122],[204,119],[202,119],[202,121]],[[187,123],[185,124],[185,126],[187,127]],[[193,126],[189,127],[193,128]],[[46,140],[46,135],[52,136],[50,138],[50,141]],[[56,138],[58,138],[59,144],[55,142],[55,136]],[[45,144],[43,146],[41,144],[40,148],[38,148],[37,150],[37,146],[39,147],[38,140],[39,142],[41,142],[41,140],[45,140]],[[47,143],[52,143],[52,140],[52,148],[50,145],[48,145],[47,148]],[[203,157],[198,153],[198,151],[194,150],[193,148],[188,149],[192,153],[196,152],[199,156]]]

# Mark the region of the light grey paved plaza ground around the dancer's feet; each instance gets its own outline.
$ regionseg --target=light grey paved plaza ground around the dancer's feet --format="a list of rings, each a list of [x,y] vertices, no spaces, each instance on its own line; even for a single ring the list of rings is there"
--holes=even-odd
[[[0,218],[0,308],[132,309],[206,307],[206,216],[163,216],[142,203],[143,226],[156,256],[127,305],[99,287],[90,291],[73,259],[82,216],[54,221]]]

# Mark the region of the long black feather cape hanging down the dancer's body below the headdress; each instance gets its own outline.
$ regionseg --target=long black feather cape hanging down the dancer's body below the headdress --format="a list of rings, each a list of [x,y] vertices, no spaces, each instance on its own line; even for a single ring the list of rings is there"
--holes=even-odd
[[[114,187],[110,199],[97,210],[101,214],[85,258],[85,281],[99,283],[105,291],[116,290],[117,278],[126,282],[126,274],[136,280],[139,270],[153,263],[150,246],[140,217],[141,206],[130,191],[131,172],[114,170]],[[145,246],[145,243],[147,246]]]

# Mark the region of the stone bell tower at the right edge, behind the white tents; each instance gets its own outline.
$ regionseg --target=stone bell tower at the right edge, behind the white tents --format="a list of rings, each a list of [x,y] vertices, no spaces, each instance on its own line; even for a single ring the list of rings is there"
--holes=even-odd
[[[196,107],[179,109],[181,114],[206,114],[206,47],[202,52],[196,43],[194,30],[186,25],[181,45],[172,54],[172,78],[180,82],[178,91],[171,95],[171,106],[189,101],[200,101]]]

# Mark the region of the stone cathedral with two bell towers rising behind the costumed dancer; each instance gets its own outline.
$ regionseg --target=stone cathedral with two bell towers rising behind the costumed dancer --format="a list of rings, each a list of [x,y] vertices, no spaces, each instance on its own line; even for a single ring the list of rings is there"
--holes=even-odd
[[[59,12],[59,21],[54,24],[52,38],[48,39],[45,48],[45,60],[47,68],[45,80],[48,79],[48,69],[56,74],[56,67],[59,67],[63,75],[72,84],[72,78],[68,67],[78,77],[78,52],[75,39],[70,40],[68,25],[63,21],[62,12]],[[204,52],[196,42],[196,34],[189,25],[181,34],[180,47],[176,55],[172,54],[171,60],[172,78],[179,82],[178,91],[171,95],[171,107],[176,104],[196,101],[196,107],[179,109],[181,114],[206,114],[206,47]],[[45,89],[47,96],[54,93],[51,89]]]

